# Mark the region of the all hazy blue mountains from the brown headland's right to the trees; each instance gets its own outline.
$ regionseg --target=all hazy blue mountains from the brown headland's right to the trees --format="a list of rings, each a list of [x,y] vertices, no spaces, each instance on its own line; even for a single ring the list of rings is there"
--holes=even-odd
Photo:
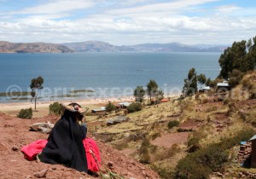
[[[62,43],[76,52],[222,52],[224,45],[187,45],[183,43],[143,43],[137,45],[117,46],[101,41],[87,41],[81,43]]]

